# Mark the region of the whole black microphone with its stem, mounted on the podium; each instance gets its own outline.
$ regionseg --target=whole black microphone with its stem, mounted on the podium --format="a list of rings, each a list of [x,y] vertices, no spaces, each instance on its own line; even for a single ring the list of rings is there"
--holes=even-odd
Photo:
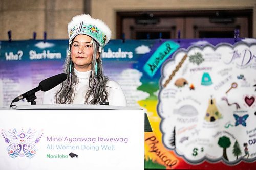
[[[67,79],[67,74],[65,74],[65,73],[61,73],[61,74],[49,77],[45,80],[42,80],[39,83],[38,87],[36,87],[36,88],[34,88],[30,91],[27,91],[26,93],[24,93],[20,96],[17,96],[15,99],[13,99],[12,102],[18,102],[19,100],[22,100],[24,98],[28,98],[29,96],[34,95],[35,92],[40,91],[40,90],[41,91],[48,91],[48,90],[52,89],[53,87],[59,85],[60,83],[62,83],[66,79]]]

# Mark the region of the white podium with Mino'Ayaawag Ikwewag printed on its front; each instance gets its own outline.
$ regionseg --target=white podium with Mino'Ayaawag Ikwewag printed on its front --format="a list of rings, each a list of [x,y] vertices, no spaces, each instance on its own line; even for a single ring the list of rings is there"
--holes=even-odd
[[[28,105],[0,109],[0,169],[144,169],[142,109]]]

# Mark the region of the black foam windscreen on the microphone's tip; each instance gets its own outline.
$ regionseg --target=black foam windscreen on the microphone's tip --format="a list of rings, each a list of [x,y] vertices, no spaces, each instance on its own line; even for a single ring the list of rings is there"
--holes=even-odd
[[[39,86],[41,86],[41,91],[48,91],[48,90],[52,89],[53,87],[59,85],[66,79],[67,79],[67,74],[61,73],[61,74],[49,77],[45,80],[42,80],[39,83]]]

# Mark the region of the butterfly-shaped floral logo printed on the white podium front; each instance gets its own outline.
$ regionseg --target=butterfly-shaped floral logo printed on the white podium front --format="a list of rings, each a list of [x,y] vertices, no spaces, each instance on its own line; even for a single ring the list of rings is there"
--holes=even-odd
[[[8,131],[1,130],[1,135],[8,144],[6,148],[7,153],[12,158],[17,158],[18,156],[32,158],[35,156],[37,152],[36,145],[41,140],[43,134],[42,130],[36,131],[32,129],[21,129],[17,131],[14,128]]]

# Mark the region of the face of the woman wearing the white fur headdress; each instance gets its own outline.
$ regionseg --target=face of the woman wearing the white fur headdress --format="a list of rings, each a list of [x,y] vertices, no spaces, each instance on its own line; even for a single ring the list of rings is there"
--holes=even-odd
[[[77,71],[89,71],[92,69],[93,44],[92,38],[88,35],[77,35],[71,46],[71,59]]]

